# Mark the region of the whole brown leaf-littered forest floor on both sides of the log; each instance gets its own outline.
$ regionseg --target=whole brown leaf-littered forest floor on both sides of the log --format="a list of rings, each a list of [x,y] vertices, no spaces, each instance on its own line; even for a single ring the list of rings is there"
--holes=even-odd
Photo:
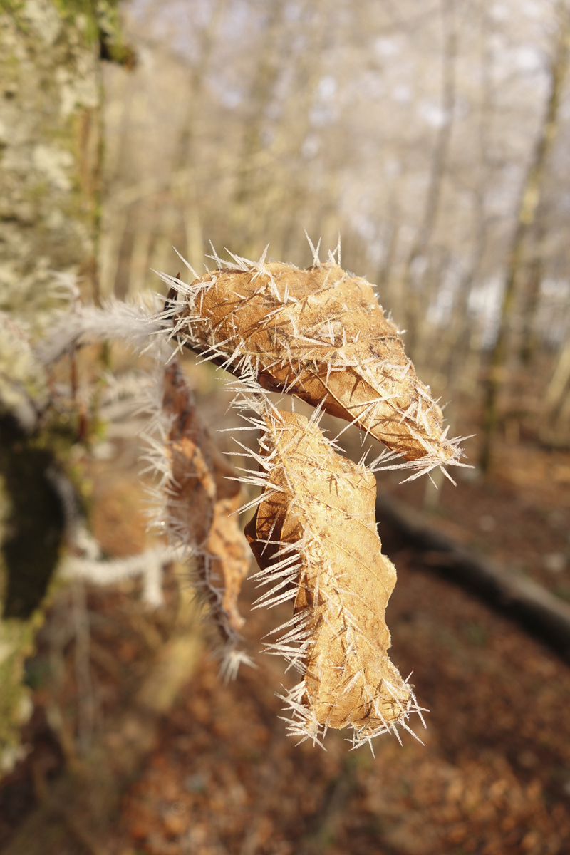
[[[115,444],[120,457],[123,446]],[[491,479],[444,485],[432,523],[568,598],[570,455],[520,445],[502,452]],[[140,488],[123,463],[115,458],[91,468],[96,534],[109,555],[144,546]],[[425,498],[425,480],[396,486],[388,477],[382,486],[415,506]],[[413,724],[424,745],[410,734],[403,734],[403,746],[384,736],[373,742],[374,758],[367,746],[351,752],[349,734],[333,731],[326,751],[310,742],[296,746],[285,735],[277,697],[294,679],[279,659],[259,653],[262,637],[288,618],[287,610],[250,612],[256,593],[246,582],[241,610],[256,669],[243,668],[237,681],[223,684],[204,649],[91,852],[570,852],[567,664],[473,595],[414,566],[411,553],[392,558],[398,581],[387,611],[391,658],[403,675],[414,672],[415,693],[429,710],[426,730],[419,720]],[[154,615],[139,603],[136,582],[88,589],[102,727],[127,702],[129,681],[160,645],[172,588],[170,579],[167,605]],[[30,663],[35,712],[24,733],[30,752],[0,782],[0,846],[38,803],[38,788],[50,787],[68,762],[48,723],[46,661],[40,638]],[[62,668],[65,708],[77,702],[73,645],[63,650]],[[89,851],[85,840],[65,851],[45,848],[46,855]]]

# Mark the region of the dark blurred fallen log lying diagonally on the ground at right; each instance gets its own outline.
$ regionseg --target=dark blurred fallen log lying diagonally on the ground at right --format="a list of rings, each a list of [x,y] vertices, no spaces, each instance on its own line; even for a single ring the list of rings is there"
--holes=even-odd
[[[537,582],[438,532],[418,511],[379,492],[376,519],[391,557],[412,549],[416,560],[476,593],[570,662],[570,605]]]

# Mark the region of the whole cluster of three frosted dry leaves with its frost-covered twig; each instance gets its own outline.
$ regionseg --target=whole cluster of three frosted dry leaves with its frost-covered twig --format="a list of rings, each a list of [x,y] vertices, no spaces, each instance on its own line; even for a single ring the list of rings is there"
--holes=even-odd
[[[238,650],[237,599],[250,553],[237,520],[254,508],[247,538],[256,577],[270,584],[257,604],[294,600],[282,636],[267,645],[302,675],[285,697],[291,733],[320,742],[327,728],[350,727],[361,745],[397,734],[397,725],[408,728],[413,712],[421,716],[387,653],[385,608],[396,570],[376,532],[373,473],[412,469],[416,478],[439,468],[448,475],[446,467],[465,464],[460,440],[448,438],[373,286],[340,267],[340,245],[325,263],[314,251],[307,270],[266,262],[266,253],[259,262],[214,254],[218,268],[202,277],[192,271],[190,285],[161,274],[170,288],[163,310],[116,300],[103,309],[75,306],[44,353],[56,358],[93,336],[146,343],[147,350],[156,343],[150,459],[160,522],[191,555],[197,589],[224,640],[222,669],[235,675],[249,661]],[[234,375],[228,386],[246,421],[241,429],[261,435],[261,453],[234,438],[256,462],[239,479],[197,416],[173,342]],[[277,410],[267,392],[302,398],[314,417]],[[368,466],[351,463],[321,433],[323,412],[358,425],[389,451]],[[244,502],[239,481],[261,487],[261,495]]]

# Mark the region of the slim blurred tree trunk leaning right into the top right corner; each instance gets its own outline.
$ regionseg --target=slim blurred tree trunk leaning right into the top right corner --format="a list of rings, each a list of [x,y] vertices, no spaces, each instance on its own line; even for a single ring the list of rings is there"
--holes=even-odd
[[[565,0],[557,9],[558,29],[555,50],[549,67],[549,95],[544,111],[544,119],[538,131],[538,138],[532,151],[531,161],[520,196],[517,222],[513,239],[508,251],[507,271],[502,294],[501,315],[497,340],[491,351],[489,373],[487,376],[483,420],[483,445],[480,465],[484,471],[491,465],[492,445],[498,422],[498,399],[506,381],[508,334],[510,331],[516,298],[520,289],[520,278],[524,263],[526,240],[536,225],[538,205],[540,203],[544,173],[550,150],[558,130],[561,94],[567,77],[568,46],[570,44],[570,16]],[[536,272],[539,277],[540,270]],[[535,281],[538,294],[539,281]],[[527,305],[532,310],[533,300]],[[526,329],[532,328],[532,318],[526,320]]]

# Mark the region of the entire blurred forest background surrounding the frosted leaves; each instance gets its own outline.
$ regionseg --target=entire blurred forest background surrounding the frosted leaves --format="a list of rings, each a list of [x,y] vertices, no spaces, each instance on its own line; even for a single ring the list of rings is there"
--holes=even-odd
[[[566,0],[0,0],[7,855],[567,852],[569,62]],[[212,245],[307,267],[305,230],[323,257],[340,233],[451,434],[473,434],[457,486],[381,475],[384,507],[537,584],[568,627],[549,649],[379,505],[391,657],[430,713],[425,746],[383,736],[376,758],[286,738],[289,675],[258,652],[288,612],[250,612],[252,583],[256,668],[220,681],[187,571],[146,530],[141,363],[91,345],[42,374],[21,344],[62,292],[165,294],[173,247],[199,273]],[[182,366],[231,451],[220,372]],[[361,457],[356,428],[343,441]]]

